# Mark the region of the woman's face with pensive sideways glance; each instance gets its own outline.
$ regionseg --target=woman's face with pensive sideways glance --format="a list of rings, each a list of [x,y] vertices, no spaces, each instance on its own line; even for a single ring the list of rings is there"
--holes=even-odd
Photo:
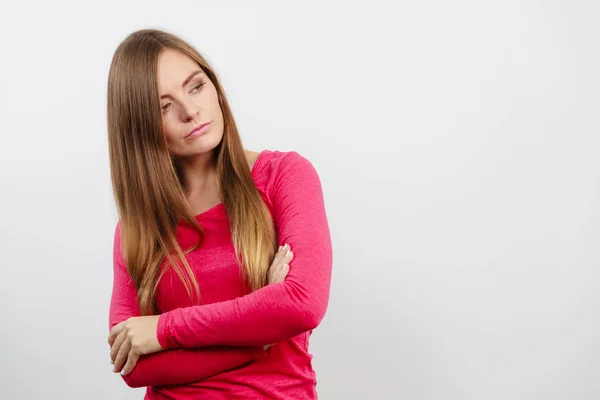
[[[223,138],[223,114],[217,90],[200,66],[187,55],[164,50],[158,59],[162,126],[169,152],[185,158],[214,149]],[[195,128],[208,126],[190,136]]]

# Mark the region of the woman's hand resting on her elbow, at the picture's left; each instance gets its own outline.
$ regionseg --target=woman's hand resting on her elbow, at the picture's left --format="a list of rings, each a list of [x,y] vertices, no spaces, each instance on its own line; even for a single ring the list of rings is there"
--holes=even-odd
[[[127,375],[141,355],[164,350],[156,334],[158,318],[158,315],[131,317],[113,326],[108,335],[113,372]]]

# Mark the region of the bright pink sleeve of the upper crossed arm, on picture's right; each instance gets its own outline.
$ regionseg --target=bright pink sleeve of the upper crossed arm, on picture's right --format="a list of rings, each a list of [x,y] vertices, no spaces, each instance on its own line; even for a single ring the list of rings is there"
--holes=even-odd
[[[323,319],[330,292],[332,243],[319,176],[296,152],[273,173],[273,214],[281,245],[294,252],[284,282],[234,300],[178,308],[160,316],[164,348],[210,345],[257,346],[314,329]]]

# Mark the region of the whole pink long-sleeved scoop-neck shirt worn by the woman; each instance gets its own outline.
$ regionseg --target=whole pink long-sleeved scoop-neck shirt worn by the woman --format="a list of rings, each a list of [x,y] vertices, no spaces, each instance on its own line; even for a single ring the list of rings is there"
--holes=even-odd
[[[158,284],[158,340],[164,351],[140,357],[123,376],[147,386],[145,399],[317,399],[308,352],[313,329],[329,299],[332,245],[323,192],[313,165],[297,152],[262,151],[252,177],[271,212],[278,243],[294,252],[284,282],[251,294],[235,260],[227,212],[219,204],[196,216],[205,232],[201,247],[186,255],[201,305],[191,305],[170,269]],[[198,239],[177,227],[182,248]],[[114,284],[109,327],[139,316],[136,290],[114,236]],[[276,343],[268,350],[263,345]]]

